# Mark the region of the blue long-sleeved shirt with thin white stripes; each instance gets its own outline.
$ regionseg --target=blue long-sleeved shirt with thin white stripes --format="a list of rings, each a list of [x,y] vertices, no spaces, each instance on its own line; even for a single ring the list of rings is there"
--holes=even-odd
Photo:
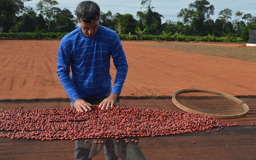
[[[115,31],[99,26],[96,34],[89,38],[79,27],[61,39],[57,73],[72,102],[83,97],[104,96],[111,89],[111,56],[117,70],[112,93],[119,95],[128,65]]]

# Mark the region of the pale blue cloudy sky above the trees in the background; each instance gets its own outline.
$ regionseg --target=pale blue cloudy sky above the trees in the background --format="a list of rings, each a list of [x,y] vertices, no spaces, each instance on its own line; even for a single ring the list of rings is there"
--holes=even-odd
[[[30,2],[25,2],[25,6],[30,6],[36,9],[36,4],[40,0],[32,0]],[[82,2],[82,0],[56,0],[59,4],[54,6],[60,9],[67,8],[73,14],[76,9],[77,4]],[[155,7],[154,12],[162,14],[162,23],[166,20],[178,21],[177,13],[180,12],[182,8],[188,8],[188,4],[195,2],[196,0],[152,0],[151,6]],[[135,19],[137,11],[145,11],[144,8],[140,9],[141,0],[94,0],[99,6],[102,12],[111,11],[112,14],[120,13],[130,13]],[[218,14],[221,10],[229,8],[233,11],[232,20],[235,18],[235,12],[240,11],[244,14],[251,13],[252,16],[256,16],[255,0],[208,0],[215,8],[215,13],[211,18],[216,20]]]

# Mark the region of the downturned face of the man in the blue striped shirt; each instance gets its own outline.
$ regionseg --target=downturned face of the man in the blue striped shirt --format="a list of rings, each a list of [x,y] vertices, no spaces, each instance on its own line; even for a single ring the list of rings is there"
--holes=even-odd
[[[77,19],[77,17],[76,17],[76,19]],[[93,37],[96,34],[97,30],[98,30],[100,20],[96,20],[95,22],[91,22],[91,23],[85,23],[82,20],[80,20],[80,21],[78,20],[78,23],[81,26],[81,32],[85,36]]]

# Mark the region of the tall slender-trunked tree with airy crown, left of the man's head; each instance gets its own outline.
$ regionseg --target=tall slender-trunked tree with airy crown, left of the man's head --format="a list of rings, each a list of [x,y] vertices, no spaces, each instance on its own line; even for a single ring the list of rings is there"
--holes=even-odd
[[[40,11],[40,13],[48,18],[48,31],[50,28],[50,21],[52,20],[53,15],[52,7],[57,4],[59,3],[55,0],[40,0],[38,4],[36,4],[36,10]]]

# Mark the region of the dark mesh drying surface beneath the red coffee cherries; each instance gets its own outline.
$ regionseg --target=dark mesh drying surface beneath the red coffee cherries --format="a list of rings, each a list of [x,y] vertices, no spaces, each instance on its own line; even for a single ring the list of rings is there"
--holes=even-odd
[[[242,126],[225,127],[210,132],[196,131],[179,135],[140,137],[138,144],[115,143],[115,139],[104,139],[110,145],[108,153],[110,159],[255,159],[256,148],[256,96],[236,96],[243,100],[250,108],[247,116],[239,119],[227,120]],[[88,99],[98,104],[99,99]],[[140,108],[156,108],[165,110],[180,110],[172,103],[172,96],[141,96],[119,97],[118,101],[127,106]],[[70,107],[70,100],[66,98],[30,99],[30,100],[0,100],[0,108],[12,110],[15,107],[26,109],[64,108]],[[6,132],[6,131],[4,131]],[[136,140],[137,140],[136,139]],[[130,140],[130,139],[129,139]],[[94,140],[95,141],[95,140]],[[91,140],[90,142],[94,142]],[[108,142],[107,142],[108,141]],[[112,142],[113,143],[112,143]],[[195,143],[193,143],[195,141]],[[85,148],[84,141],[80,146]],[[92,159],[105,159],[104,145],[94,146],[84,154]],[[25,140],[0,137],[0,159],[75,159],[75,141],[72,140]]]

